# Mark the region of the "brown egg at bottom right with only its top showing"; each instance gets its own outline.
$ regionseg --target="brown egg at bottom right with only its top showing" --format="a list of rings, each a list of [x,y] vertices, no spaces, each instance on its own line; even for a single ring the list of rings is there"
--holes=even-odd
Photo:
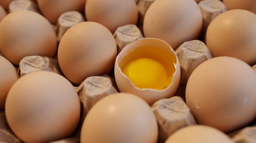
[[[190,125],[174,132],[164,143],[234,143],[234,141],[211,126]]]

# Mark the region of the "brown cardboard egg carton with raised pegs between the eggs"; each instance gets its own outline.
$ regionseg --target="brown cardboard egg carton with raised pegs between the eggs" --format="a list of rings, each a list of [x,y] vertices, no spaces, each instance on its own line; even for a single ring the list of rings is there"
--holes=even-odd
[[[21,0],[19,1],[21,2]],[[143,38],[143,17],[147,8],[154,0],[135,1],[139,10],[138,25],[128,24],[121,26],[113,34],[117,43],[118,53],[126,45]],[[209,23],[216,16],[226,11],[226,8],[220,0],[203,0],[199,3],[199,7],[203,15],[203,30],[201,34],[201,38],[203,38]],[[83,21],[85,20],[80,13],[75,11],[63,13],[57,25],[53,25],[58,41],[71,26]],[[174,97],[161,99],[151,106],[159,125],[158,143],[163,143],[169,135],[184,126],[197,124],[185,103],[185,87],[192,71],[207,59],[212,58],[207,46],[203,43],[203,39],[184,42],[175,52],[181,67],[181,80],[177,92]],[[0,56],[3,56],[1,52]],[[256,65],[252,68],[256,71]],[[57,57],[27,56],[21,60],[17,70],[21,77],[33,71],[52,71],[63,75],[58,65]],[[109,75],[88,77],[80,85],[74,85],[74,87],[81,103],[81,120],[77,126],[77,130],[73,136],[51,143],[79,143],[81,125],[91,107],[103,97],[119,92],[113,72]],[[253,122],[251,125],[228,135],[234,142],[255,143],[255,132],[256,123]],[[0,142],[23,143],[11,131],[3,111],[0,112]]]

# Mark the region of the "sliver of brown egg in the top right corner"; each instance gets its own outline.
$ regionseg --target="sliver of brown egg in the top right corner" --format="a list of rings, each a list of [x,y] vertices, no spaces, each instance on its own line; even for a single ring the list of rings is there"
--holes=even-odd
[[[256,14],[255,0],[223,0],[227,10],[231,9],[245,9]]]

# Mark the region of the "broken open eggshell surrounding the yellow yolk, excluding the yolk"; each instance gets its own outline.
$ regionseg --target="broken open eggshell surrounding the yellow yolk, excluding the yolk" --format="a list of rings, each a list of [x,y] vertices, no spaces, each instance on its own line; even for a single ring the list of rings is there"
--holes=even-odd
[[[146,46],[154,47],[151,50],[145,50],[142,54],[130,52],[136,51],[136,49]],[[164,51],[164,52],[163,52]],[[158,58],[158,60],[167,70],[168,77],[172,76],[171,84],[161,90],[158,89],[150,89],[143,88],[140,89],[135,87],[135,85],[130,81],[130,79],[122,72],[124,66],[128,64],[130,61],[136,58],[144,57],[147,55],[149,58]],[[165,62],[171,61],[171,63]],[[165,63],[164,63],[165,62]],[[174,70],[171,67],[176,67]],[[172,71],[173,70],[173,71]],[[171,98],[180,83],[181,70],[180,63],[175,51],[168,45],[165,41],[156,39],[156,38],[142,38],[138,41],[135,41],[129,45],[127,45],[117,56],[115,62],[115,79],[117,82],[117,87],[121,92],[128,92],[135,94],[145,100],[149,105],[155,103],[156,101],[163,98]]]

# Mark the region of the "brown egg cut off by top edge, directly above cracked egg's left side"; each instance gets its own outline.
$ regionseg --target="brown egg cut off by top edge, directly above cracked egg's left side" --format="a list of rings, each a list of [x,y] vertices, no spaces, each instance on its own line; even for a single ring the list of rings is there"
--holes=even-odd
[[[100,23],[112,33],[120,26],[138,23],[138,10],[134,0],[86,0],[87,21]]]

